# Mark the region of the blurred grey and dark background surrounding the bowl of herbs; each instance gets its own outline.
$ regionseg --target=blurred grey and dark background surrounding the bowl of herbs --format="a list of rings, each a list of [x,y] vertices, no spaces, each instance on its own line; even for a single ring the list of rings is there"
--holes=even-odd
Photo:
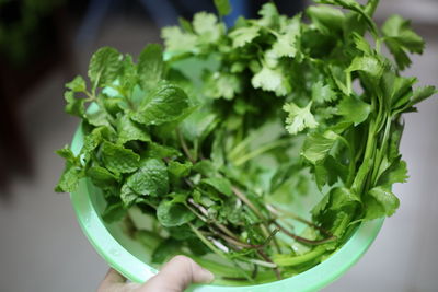
[[[64,167],[56,149],[78,120],[64,113],[64,84],[85,74],[91,54],[114,46],[137,56],[160,27],[212,11],[208,0],[0,0],[0,291],[94,291],[107,270],[76,221],[67,195],[53,191]],[[228,23],[264,1],[234,2]],[[274,1],[285,14],[306,1]],[[251,3],[251,4],[250,4]],[[378,22],[411,19],[426,39],[405,73],[437,85],[438,1],[381,0]],[[411,178],[396,185],[399,211],[365,257],[324,291],[438,290],[438,100],[405,116],[401,150]]]

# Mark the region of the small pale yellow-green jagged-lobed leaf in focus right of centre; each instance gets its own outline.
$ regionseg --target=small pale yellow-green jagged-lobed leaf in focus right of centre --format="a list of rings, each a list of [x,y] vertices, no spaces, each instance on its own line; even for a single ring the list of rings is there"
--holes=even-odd
[[[283,109],[288,113],[286,130],[288,130],[289,133],[296,135],[306,128],[312,129],[318,126],[312,113],[310,113],[311,106],[312,102],[303,108],[297,106],[295,103],[284,105]]]

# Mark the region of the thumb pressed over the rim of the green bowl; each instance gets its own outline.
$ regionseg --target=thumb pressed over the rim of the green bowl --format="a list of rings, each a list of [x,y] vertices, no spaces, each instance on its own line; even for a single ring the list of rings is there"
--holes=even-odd
[[[161,271],[147,281],[141,291],[182,292],[191,283],[210,283],[214,275],[193,259],[175,256]],[[145,290],[143,290],[145,289]]]

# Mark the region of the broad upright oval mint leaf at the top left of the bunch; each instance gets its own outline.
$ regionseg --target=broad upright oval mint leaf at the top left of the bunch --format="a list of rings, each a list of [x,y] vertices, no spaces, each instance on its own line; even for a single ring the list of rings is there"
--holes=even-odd
[[[114,48],[100,48],[91,57],[89,78],[93,87],[111,84],[122,66],[122,55]]]

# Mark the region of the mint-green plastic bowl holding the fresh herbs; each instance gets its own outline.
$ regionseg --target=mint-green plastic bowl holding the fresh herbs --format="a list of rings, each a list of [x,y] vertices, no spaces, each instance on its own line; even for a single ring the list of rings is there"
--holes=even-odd
[[[82,148],[82,127],[79,127],[71,149],[78,154]],[[71,202],[78,221],[87,237],[97,253],[111,267],[123,273],[134,282],[145,282],[158,270],[150,266],[150,253],[138,242],[131,240],[123,231],[122,224],[105,223],[101,213],[105,208],[105,200],[89,180],[82,179],[76,192],[71,194]],[[311,207],[313,202],[302,202]],[[350,238],[326,260],[318,266],[288,279],[256,284],[230,287],[220,284],[192,285],[188,291],[196,292],[261,292],[261,291],[318,291],[345,273],[365,254],[374,241],[383,224],[383,219],[360,224]]]

